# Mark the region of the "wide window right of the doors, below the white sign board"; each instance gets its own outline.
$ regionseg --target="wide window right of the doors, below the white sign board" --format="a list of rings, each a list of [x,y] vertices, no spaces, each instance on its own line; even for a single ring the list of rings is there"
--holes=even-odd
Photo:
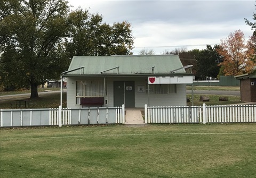
[[[148,85],[146,85],[146,94],[148,93]],[[176,84],[149,84],[150,94],[176,94]]]

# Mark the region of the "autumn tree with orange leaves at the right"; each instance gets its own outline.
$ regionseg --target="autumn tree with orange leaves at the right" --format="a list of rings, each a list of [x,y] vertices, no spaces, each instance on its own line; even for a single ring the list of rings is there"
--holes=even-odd
[[[253,71],[255,52],[252,38],[246,41],[241,30],[230,33],[227,38],[222,39],[217,52],[223,56],[223,62],[220,63],[223,74],[240,75]]]

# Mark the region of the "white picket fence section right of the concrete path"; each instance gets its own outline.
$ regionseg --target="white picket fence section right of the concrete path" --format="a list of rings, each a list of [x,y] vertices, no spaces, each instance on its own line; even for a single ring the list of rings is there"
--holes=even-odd
[[[145,123],[256,122],[256,105],[166,106],[145,105]]]

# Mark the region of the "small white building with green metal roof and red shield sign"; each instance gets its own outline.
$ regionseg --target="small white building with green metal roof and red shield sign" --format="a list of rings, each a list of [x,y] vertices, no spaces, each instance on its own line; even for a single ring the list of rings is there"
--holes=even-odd
[[[178,55],[74,56],[67,78],[67,107],[186,106],[186,73]]]

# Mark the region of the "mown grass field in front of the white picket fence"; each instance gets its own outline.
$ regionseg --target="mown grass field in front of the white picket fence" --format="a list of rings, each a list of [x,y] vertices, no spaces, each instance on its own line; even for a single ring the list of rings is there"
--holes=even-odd
[[[255,177],[256,124],[1,129],[0,177]]]

